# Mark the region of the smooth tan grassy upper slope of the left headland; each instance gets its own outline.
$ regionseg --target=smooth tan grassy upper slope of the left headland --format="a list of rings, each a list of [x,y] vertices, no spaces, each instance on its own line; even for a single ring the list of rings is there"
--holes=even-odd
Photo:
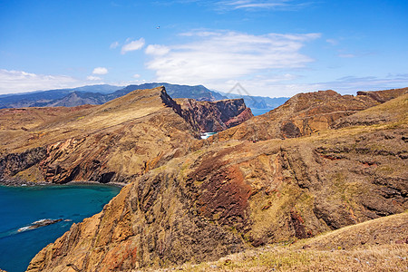
[[[101,106],[0,111],[0,151],[21,152],[56,141],[114,129],[163,111],[161,89],[131,92]],[[142,105],[142,106],[141,106]]]

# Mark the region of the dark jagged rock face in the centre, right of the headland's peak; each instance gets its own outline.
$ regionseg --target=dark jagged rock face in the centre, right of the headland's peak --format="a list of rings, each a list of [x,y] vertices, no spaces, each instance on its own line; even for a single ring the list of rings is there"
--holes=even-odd
[[[218,132],[236,126],[254,115],[243,99],[199,102],[178,99],[181,116],[201,132]]]

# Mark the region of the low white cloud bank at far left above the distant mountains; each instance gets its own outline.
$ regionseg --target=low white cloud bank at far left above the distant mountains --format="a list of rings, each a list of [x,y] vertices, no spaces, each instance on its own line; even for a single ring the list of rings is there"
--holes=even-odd
[[[65,75],[44,75],[0,69],[0,93],[73,88],[83,81]]]

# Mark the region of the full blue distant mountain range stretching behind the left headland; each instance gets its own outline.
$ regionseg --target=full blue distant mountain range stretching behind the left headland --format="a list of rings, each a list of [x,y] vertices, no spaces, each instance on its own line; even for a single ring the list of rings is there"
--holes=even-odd
[[[219,101],[223,99],[243,98],[249,108],[274,109],[288,98],[270,98],[261,96],[238,95],[213,92],[203,85],[189,86],[170,83],[144,83],[126,87],[112,85],[90,85],[73,89],[24,92],[0,95],[0,109],[25,107],[75,107],[84,104],[101,105],[134,90],[152,89],[164,86],[171,98],[192,98],[198,101]]]

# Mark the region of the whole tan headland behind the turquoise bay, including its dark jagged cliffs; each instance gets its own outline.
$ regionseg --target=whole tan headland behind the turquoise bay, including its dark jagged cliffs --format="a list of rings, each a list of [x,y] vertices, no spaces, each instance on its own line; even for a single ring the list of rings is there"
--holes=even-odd
[[[2,110],[0,178],[126,183],[191,151],[199,141],[199,121],[225,121],[229,127],[246,120],[244,103],[215,104],[201,102],[199,111],[187,114],[158,87],[101,106]]]

